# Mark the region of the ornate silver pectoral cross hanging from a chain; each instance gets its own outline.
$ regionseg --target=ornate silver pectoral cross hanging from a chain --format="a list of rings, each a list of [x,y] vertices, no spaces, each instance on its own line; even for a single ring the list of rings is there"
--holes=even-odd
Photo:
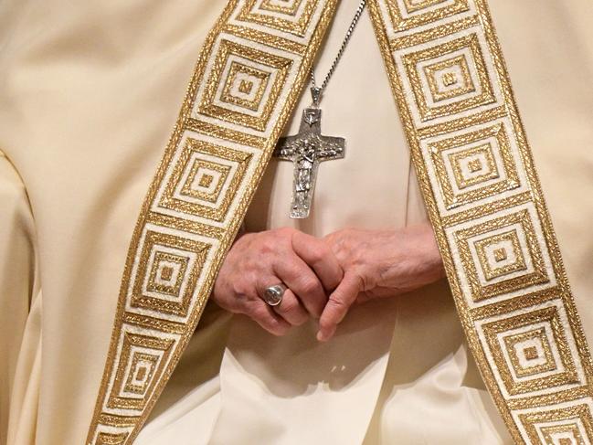
[[[317,103],[314,96],[313,103]],[[294,136],[281,138],[273,153],[282,161],[295,164],[292,181],[292,218],[309,216],[319,163],[344,157],[345,139],[322,136],[321,122],[320,108],[305,108],[302,111],[299,132]]]

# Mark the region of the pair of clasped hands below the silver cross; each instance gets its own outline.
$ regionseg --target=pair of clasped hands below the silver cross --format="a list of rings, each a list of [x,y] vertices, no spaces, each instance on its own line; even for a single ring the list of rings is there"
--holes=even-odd
[[[314,238],[292,228],[239,237],[217,276],[212,298],[271,334],[286,334],[310,317],[320,341],[330,339],[355,302],[413,291],[444,276],[428,224],[398,230],[345,228]],[[261,299],[284,283],[281,303]]]

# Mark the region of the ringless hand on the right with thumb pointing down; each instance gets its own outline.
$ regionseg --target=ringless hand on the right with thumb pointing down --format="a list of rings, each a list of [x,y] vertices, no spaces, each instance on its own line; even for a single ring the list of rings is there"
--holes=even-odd
[[[354,302],[413,291],[445,276],[429,224],[397,230],[345,228],[325,241],[342,266],[344,279],[323,309],[320,341],[334,335]]]

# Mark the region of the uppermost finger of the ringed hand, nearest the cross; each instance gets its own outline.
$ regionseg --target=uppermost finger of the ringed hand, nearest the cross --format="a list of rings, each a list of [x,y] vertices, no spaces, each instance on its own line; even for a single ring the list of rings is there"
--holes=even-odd
[[[302,232],[292,236],[292,249],[314,270],[325,291],[331,292],[340,284],[344,272],[326,242]]]

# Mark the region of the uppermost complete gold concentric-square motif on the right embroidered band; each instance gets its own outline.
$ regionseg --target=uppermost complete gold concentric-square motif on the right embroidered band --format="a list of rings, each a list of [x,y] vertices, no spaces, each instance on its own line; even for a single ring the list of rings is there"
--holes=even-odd
[[[477,34],[408,52],[402,63],[422,122],[496,101]],[[446,86],[446,74],[454,74],[456,82]]]

